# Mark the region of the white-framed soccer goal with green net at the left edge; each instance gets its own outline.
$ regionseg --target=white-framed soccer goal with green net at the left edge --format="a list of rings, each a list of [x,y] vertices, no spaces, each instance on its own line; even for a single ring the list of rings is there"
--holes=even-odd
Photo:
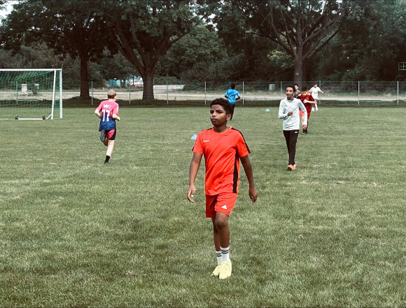
[[[0,69],[0,119],[62,118],[62,69]]]

